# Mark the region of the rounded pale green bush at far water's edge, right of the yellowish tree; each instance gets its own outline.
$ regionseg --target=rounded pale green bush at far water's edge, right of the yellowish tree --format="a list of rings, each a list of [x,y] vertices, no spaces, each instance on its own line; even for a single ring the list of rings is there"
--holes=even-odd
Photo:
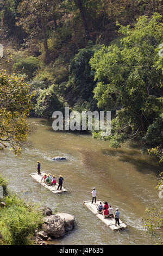
[[[52,118],[54,111],[62,111],[62,103],[54,92],[55,85],[41,90],[37,99],[35,113],[40,117]]]

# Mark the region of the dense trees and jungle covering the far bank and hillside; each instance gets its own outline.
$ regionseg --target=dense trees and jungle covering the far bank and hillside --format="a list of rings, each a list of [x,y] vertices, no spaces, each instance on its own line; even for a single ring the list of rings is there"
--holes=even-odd
[[[111,111],[112,147],[162,143],[162,1],[1,1],[1,68],[30,86],[30,115]],[[161,46],[160,46],[161,45]],[[101,137],[101,132],[93,132]]]

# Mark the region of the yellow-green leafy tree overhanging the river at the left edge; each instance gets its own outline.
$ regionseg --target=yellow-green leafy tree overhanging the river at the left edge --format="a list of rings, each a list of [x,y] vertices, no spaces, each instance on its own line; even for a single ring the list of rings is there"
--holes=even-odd
[[[23,78],[0,73],[0,150],[10,147],[15,154],[27,139],[26,118],[31,108],[29,87]]]

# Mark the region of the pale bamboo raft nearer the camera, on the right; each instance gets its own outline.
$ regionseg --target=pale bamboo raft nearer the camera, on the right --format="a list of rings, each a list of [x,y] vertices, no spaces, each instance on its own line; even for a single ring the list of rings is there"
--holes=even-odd
[[[111,228],[111,230],[118,230],[118,229],[127,228],[127,225],[124,224],[124,222],[122,222],[121,220],[120,220],[120,225],[117,224],[117,226],[115,226],[115,218],[114,217],[104,218],[103,214],[99,213],[98,210],[97,210],[97,205],[99,204],[99,202],[102,202],[102,201],[101,200],[96,200],[96,204],[94,202],[92,204],[92,201],[85,201],[85,202],[83,202],[83,204],[85,204],[87,206],[87,208],[93,212],[93,214],[95,214],[109,228]],[[102,205],[104,206],[103,203],[102,203]]]

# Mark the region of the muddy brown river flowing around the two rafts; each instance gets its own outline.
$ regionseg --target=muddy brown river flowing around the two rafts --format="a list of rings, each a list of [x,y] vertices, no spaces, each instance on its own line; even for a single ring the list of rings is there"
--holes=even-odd
[[[154,157],[143,155],[136,147],[125,144],[120,149],[109,147],[108,141],[89,135],[54,132],[52,124],[40,118],[29,118],[35,127],[21,158],[9,151],[1,153],[0,172],[9,180],[9,187],[30,202],[46,204],[53,210],[72,214],[76,227],[55,245],[152,245],[146,234],[142,217],[145,208],[162,206],[158,190],[161,166]],[[55,156],[66,156],[66,161],[52,161]],[[53,194],[35,182],[30,173],[36,172],[37,161],[41,171],[64,176],[63,186],[68,192]],[[112,231],[83,205],[91,200],[92,188],[97,199],[106,200],[120,209],[120,218],[128,229]]]

